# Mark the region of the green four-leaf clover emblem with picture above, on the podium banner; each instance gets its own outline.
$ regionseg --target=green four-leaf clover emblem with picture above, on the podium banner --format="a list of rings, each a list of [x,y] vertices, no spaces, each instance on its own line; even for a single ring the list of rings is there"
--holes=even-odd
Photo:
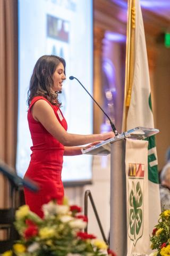
[[[128,236],[134,246],[143,234],[144,164],[129,163]]]

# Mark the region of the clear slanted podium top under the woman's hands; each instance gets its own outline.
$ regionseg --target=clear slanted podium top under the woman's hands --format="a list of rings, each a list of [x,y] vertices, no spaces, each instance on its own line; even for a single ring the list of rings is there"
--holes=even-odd
[[[138,126],[126,132],[122,132],[116,137],[102,141],[101,143],[98,143],[97,145],[92,146],[90,148],[87,148],[87,149],[82,148],[81,151],[82,151],[82,154],[105,156],[111,153],[111,143],[114,143],[118,140],[122,140],[126,138],[131,138],[136,140],[145,140],[146,138],[149,138],[150,136],[155,135],[158,132],[159,132],[158,129]]]

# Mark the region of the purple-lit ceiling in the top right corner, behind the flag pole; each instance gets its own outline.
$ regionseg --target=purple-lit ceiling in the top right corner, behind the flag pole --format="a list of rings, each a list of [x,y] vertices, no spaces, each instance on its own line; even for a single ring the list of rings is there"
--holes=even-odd
[[[117,5],[127,9],[128,0],[112,0]],[[142,9],[147,9],[165,19],[169,20],[170,27],[170,0],[140,0]]]

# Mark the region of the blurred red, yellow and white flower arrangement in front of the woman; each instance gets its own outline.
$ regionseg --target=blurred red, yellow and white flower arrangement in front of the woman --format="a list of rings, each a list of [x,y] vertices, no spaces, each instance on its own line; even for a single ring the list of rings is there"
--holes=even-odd
[[[87,217],[77,205],[43,205],[44,219],[31,212],[28,205],[16,211],[15,227],[21,238],[3,256],[105,256],[107,245],[96,236],[82,231]],[[115,256],[108,250],[109,256]]]

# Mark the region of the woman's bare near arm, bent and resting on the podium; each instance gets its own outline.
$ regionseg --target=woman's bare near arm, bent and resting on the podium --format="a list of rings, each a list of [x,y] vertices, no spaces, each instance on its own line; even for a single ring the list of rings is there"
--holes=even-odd
[[[114,137],[113,132],[103,134],[80,135],[67,133],[58,122],[53,108],[45,100],[38,100],[31,108],[33,118],[40,122],[45,129],[52,134],[64,146],[80,146],[97,140],[106,140]]]

